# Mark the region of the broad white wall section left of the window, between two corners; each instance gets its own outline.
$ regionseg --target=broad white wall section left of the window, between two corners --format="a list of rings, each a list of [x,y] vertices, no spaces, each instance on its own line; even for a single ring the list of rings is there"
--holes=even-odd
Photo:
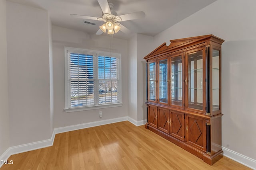
[[[7,1],[10,146],[50,139],[48,12]]]

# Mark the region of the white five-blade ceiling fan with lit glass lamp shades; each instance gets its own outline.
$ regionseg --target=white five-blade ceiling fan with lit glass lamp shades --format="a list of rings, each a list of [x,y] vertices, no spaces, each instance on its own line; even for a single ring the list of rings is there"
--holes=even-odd
[[[130,30],[124,27],[124,25],[120,24],[119,22],[145,17],[145,13],[142,11],[118,16],[116,11],[113,10],[114,4],[112,4],[111,2],[108,2],[107,0],[98,0],[98,3],[100,4],[100,8],[102,9],[102,18],[70,14],[74,18],[104,21],[105,23],[100,26],[100,29],[96,32],[96,35],[101,35],[107,30],[108,34],[117,33],[119,30],[124,33],[130,33]]]

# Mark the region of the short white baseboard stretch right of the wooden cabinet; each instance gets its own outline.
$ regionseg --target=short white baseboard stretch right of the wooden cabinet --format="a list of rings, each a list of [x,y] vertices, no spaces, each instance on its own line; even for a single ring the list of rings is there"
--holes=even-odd
[[[222,150],[224,152],[224,156],[226,156],[236,162],[239,162],[240,164],[243,164],[249,168],[256,170],[256,160],[249,158],[247,156],[244,156],[238,152],[235,152],[235,151],[230,150],[225,147],[222,147]]]

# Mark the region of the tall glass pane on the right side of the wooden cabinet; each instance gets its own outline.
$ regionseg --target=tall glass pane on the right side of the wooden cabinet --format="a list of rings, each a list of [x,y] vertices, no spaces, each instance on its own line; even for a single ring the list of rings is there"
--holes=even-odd
[[[212,50],[212,111],[220,109],[220,51]]]

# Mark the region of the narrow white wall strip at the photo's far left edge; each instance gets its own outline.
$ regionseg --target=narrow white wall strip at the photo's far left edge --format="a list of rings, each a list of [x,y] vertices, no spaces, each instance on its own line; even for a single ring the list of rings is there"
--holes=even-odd
[[[6,0],[0,0],[0,157],[9,147]]]

